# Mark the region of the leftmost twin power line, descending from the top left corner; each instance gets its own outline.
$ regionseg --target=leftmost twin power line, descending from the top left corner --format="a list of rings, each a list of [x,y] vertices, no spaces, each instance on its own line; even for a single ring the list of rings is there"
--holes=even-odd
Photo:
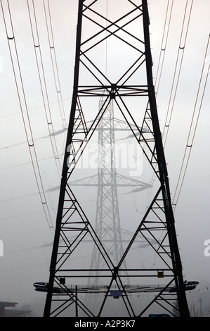
[[[43,209],[44,209],[44,214],[46,216],[48,226],[51,229],[51,228],[53,228],[53,223],[52,223],[52,220],[51,220],[51,215],[48,211],[48,205],[47,205],[46,196],[45,196],[45,193],[44,193],[44,186],[43,186],[43,182],[41,180],[41,173],[40,173],[40,170],[39,170],[39,163],[38,163],[38,160],[37,160],[37,152],[36,152],[36,149],[35,149],[35,146],[34,146],[34,138],[33,138],[33,135],[32,135],[32,127],[31,127],[31,123],[30,123],[30,120],[29,120],[29,114],[28,114],[28,111],[27,111],[27,101],[26,101],[26,96],[25,96],[25,89],[24,89],[23,82],[22,82],[22,73],[21,73],[21,70],[20,70],[20,61],[19,61],[19,57],[18,57],[18,49],[17,49],[16,42],[15,42],[15,34],[14,34],[14,30],[13,30],[13,21],[12,21],[11,10],[10,10],[10,6],[9,6],[8,1],[7,1],[7,6],[8,6],[8,15],[9,15],[9,20],[10,20],[10,25],[11,25],[11,32],[13,34],[12,36],[8,35],[8,26],[6,24],[5,12],[4,12],[3,4],[2,4],[2,1],[1,1],[1,10],[2,10],[2,13],[3,13],[4,26],[5,26],[5,30],[6,30],[6,36],[7,36],[7,39],[8,39],[8,49],[9,49],[9,53],[10,53],[10,56],[11,56],[11,63],[12,63],[13,74],[14,74],[14,78],[15,78],[15,86],[16,86],[17,93],[18,93],[18,100],[19,100],[20,109],[21,109],[21,113],[22,113],[22,121],[23,121],[23,125],[24,125],[24,128],[25,128],[25,135],[27,137],[27,143],[28,143],[28,146],[29,146],[29,154],[30,154],[30,158],[32,160],[32,168],[34,170],[34,177],[35,177],[35,180],[37,182],[37,188],[38,188],[39,196],[40,196],[40,199],[41,199],[41,204],[42,204]],[[16,70],[15,70],[15,64],[14,64],[14,60],[13,60],[13,54],[12,54],[12,50],[11,50],[10,41],[13,42],[13,45],[14,45],[14,48],[15,48],[15,57],[16,57],[17,65],[18,65],[17,73],[16,73]],[[17,74],[19,74],[23,103],[25,104],[25,108],[26,108],[26,113],[27,113],[26,118],[25,118],[24,113],[23,113],[22,101],[21,101],[21,96],[20,96],[20,88],[18,87]],[[34,154],[34,157],[33,157],[32,154]],[[34,161],[34,158],[35,158],[35,161]]]

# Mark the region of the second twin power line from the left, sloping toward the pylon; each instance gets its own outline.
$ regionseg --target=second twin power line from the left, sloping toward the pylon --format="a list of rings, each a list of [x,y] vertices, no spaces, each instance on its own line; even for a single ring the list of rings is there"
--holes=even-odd
[[[28,13],[29,13],[29,22],[31,25],[31,30],[32,30],[32,38],[33,38],[33,42],[34,42],[34,51],[35,51],[35,57],[36,57],[36,62],[37,62],[37,70],[38,70],[38,74],[39,74],[39,82],[40,82],[40,87],[41,87],[41,95],[42,95],[42,99],[43,99],[43,103],[44,103],[44,110],[45,110],[45,114],[46,114],[46,121],[47,121],[47,125],[48,125],[48,132],[50,135],[50,139],[51,139],[51,146],[53,149],[53,154],[55,156],[55,164],[58,170],[58,175],[60,177],[60,173],[61,173],[61,166],[60,166],[60,160],[58,158],[58,148],[57,148],[57,144],[55,141],[55,135],[53,134],[54,129],[53,129],[53,120],[52,120],[52,115],[51,115],[51,108],[50,108],[50,103],[49,103],[49,99],[48,99],[48,91],[47,91],[47,87],[46,87],[46,77],[45,77],[45,73],[44,73],[44,63],[43,63],[43,59],[42,59],[42,54],[41,54],[41,45],[40,45],[40,41],[39,41],[39,32],[38,32],[38,27],[37,27],[37,15],[36,15],[36,11],[34,8],[34,0],[32,0],[32,11],[34,14],[34,25],[35,25],[35,32],[37,35],[37,43],[35,41],[35,36],[34,36],[34,28],[32,25],[32,15],[31,15],[31,11],[29,8],[29,0],[27,0],[27,8],[28,8]],[[41,62],[41,69],[39,68],[39,61],[38,61],[38,56],[37,56],[37,49],[39,49],[39,58],[40,58],[40,62]],[[42,72],[42,77],[44,80],[44,87],[43,84],[41,82],[41,72]],[[45,89],[45,94],[46,94],[46,101],[44,99],[44,89]],[[48,113],[46,110],[46,104],[48,106]],[[52,130],[52,134],[51,134],[51,130]],[[52,139],[53,137],[53,139]],[[53,142],[54,142],[54,146],[53,146]],[[58,169],[59,167],[59,169]]]

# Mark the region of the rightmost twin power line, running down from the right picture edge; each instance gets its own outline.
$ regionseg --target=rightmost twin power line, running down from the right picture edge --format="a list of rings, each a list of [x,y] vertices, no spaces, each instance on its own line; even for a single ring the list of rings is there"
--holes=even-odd
[[[209,38],[210,38],[210,35],[209,35]],[[200,112],[201,112],[202,102],[203,102],[203,99],[204,99],[204,93],[205,93],[205,90],[206,90],[206,84],[207,84],[207,80],[208,80],[208,77],[209,77],[209,68],[208,68],[207,73],[206,73],[206,80],[205,80],[205,83],[204,83],[204,89],[203,89],[203,92],[202,92],[202,99],[200,101],[199,111],[198,111],[197,119],[196,119],[196,123],[195,123],[195,129],[194,129],[193,134],[192,134],[192,141],[190,142],[190,135],[191,135],[191,132],[192,132],[192,125],[194,123],[195,111],[196,111],[196,108],[197,108],[197,101],[198,101],[199,91],[200,91],[200,87],[201,87],[201,84],[202,84],[202,78],[203,78],[203,74],[204,74],[204,67],[206,65],[206,54],[207,54],[208,49],[209,49],[209,38],[208,38],[208,42],[207,42],[207,46],[206,46],[206,52],[205,52],[205,56],[204,56],[204,63],[203,63],[203,66],[202,66],[202,73],[200,75],[199,87],[198,87],[198,90],[197,90],[195,107],[194,107],[194,111],[193,111],[193,114],[192,114],[192,120],[191,120],[191,124],[190,124],[190,130],[189,130],[189,133],[188,133],[187,144],[185,146],[185,153],[184,153],[184,156],[183,156],[183,161],[182,161],[182,164],[181,164],[181,170],[180,170],[180,173],[179,173],[178,182],[177,182],[177,185],[176,185],[175,194],[174,194],[174,198],[173,198],[173,206],[175,206],[175,208],[176,208],[179,196],[181,194],[181,189],[183,187],[183,181],[185,179],[185,174],[186,174],[186,171],[187,171],[187,168],[188,168],[188,163],[189,163],[189,160],[190,160],[190,154],[191,154],[191,151],[192,151],[192,144],[193,144],[194,139],[195,139],[195,133],[196,133],[196,130],[197,130],[199,115],[200,115]],[[184,166],[185,158],[187,157],[186,155],[187,155],[187,151],[188,151],[189,148],[190,148],[190,151],[189,151],[189,154],[188,154],[187,162],[186,162],[186,165],[185,165],[185,170],[184,170],[184,173],[183,173],[183,166]],[[181,180],[182,173],[183,173],[183,178]],[[176,198],[176,192],[178,190],[178,185],[179,185],[180,181],[181,181],[181,187],[179,189],[178,197],[177,197],[176,203],[175,203],[174,201],[175,201],[175,198]]]

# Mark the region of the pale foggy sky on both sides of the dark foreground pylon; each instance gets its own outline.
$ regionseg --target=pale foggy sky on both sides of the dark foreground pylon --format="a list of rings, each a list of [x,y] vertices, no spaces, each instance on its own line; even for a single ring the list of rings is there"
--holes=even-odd
[[[56,138],[60,159],[59,162],[55,161],[53,159],[50,140],[47,138],[49,132],[47,130],[46,113],[44,111],[37,75],[27,1],[11,0],[9,2],[13,18],[15,42],[20,58],[22,80],[27,97],[27,108],[29,109],[30,123],[32,123],[37,158],[40,160],[41,178],[43,180],[44,189],[47,191],[51,187],[60,185],[63,147],[65,146],[66,136],[65,133],[63,133]],[[58,111],[58,97],[53,82],[51,58],[48,51],[43,2],[41,0],[34,2],[36,4],[35,8],[38,17],[39,37],[40,44],[42,45],[41,50],[44,56],[48,101],[53,114],[53,129],[56,132],[63,129],[65,121],[61,118],[60,111]],[[51,20],[60,75],[60,86],[65,110],[65,123],[67,123],[70,115],[74,74],[77,0],[50,0],[49,2],[51,6]],[[149,5],[154,80],[157,74],[159,54],[161,53],[167,2],[166,0],[150,0]],[[171,3],[171,1],[169,2]],[[166,111],[170,100],[178,49],[184,42],[184,40],[181,39],[180,43],[185,1],[176,0],[173,2],[171,26],[169,29],[161,81],[157,93],[159,123],[162,132],[164,130]],[[188,11],[190,3],[191,1],[189,1]],[[5,0],[2,0],[2,4],[6,7]],[[110,11],[114,11],[114,8],[110,8]],[[48,281],[51,246],[46,248],[42,246],[53,241],[53,232],[44,216],[43,206],[37,191],[37,183],[30,161],[20,104],[15,88],[2,12],[0,15],[0,239],[4,243],[4,256],[0,256],[0,300],[17,301],[21,304],[28,301],[31,302],[34,298],[41,297],[44,302],[45,294],[35,292],[32,285],[34,282]],[[192,113],[196,104],[195,120],[193,122],[193,125],[195,125],[208,63],[210,62],[210,52],[208,50],[202,78],[202,87],[199,92],[199,97],[196,99],[206,44],[210,32],[209,15],[209,1],[195,0],[192,6],[178,89],[175,99],[173,99],[173,96],[171,97],[170,106],[174,100],[173,115],[164,149],[171,185],[171,199],[174,197],[176,183],[181,170]],[[186,26],[184,27],[184,32],[185,29]],[[183,37],[184,36],[185,33],[183,33]],[[180,50],[179,61],[181,60],[182,52],[183,50]],[[103,61],[103,59],[101,59],[101,61]],[[176,218],[178,246],[180,247],[181,260],[183,261],[183,275],[185,280],[199,281],[200,293],[206,293],[206,283],[208,284],[210,276],[210,256],[204,256],[204,242],[206,239],[210,239],[209,88],[208,80],[199,121],[197,123],[196,136],[190,154],[190,161],[174,213]],[[190,137],[190,140],[192,140],[192,137]],[[80,174],[82,177],[85,177],[83,173]],[[53,224],[55,224],[58,193],[58,191],[46,193]],[[88,194],[84,194],[81,198],[84,202],[89,200]],[[195,290],[195,294],[197,293],[196,291],[197,290]],[[199,298],[199,293],[197,294]],[[191,294],[188,294],[189,301],[192,300],[190,295]]]

